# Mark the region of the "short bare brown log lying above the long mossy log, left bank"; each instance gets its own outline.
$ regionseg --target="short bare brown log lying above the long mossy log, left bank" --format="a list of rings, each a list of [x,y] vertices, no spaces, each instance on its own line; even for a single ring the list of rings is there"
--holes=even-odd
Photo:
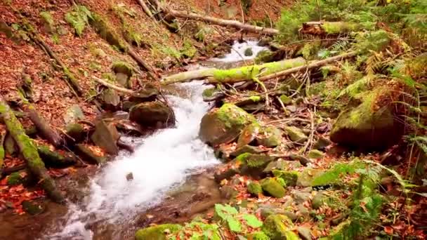
[[[51,142],[51,144],[55,147],[60,147],[63,145],[63,139],[60,137],[59,133],[53,129],[48,122],[40,116],[39,112],[37,112],[34,105],[28,102],[24,96],[21,95],[21,107],[24,112],[27,112],[29,119],[36,126],[40,135]]]

